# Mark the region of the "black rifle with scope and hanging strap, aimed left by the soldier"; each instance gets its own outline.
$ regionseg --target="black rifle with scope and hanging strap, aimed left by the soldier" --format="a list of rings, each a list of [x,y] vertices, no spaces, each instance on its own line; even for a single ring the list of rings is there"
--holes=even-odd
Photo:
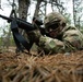
[[[19,17],[7,17],[4,15],[0,14],[0,17],[8,21],[8,23],[11,23],[11,31],[13,34],[14,42],[16,44],[16,47],[19,50],[23,51],[22,45],[24,48],[26,48],[29,51],[29,48],[32,47],[33,44],[29,44],[28,42],[25,40],[25,38],[19,33],[19,28],[25,30],[25,32],[34,31],[37,27],[34,26],[34,24],[31,24],[22,19]],[[35,20],[36,25],[38,25],[40,33],[45,35],[45,28],[40,27],[43,25],[43,22],[36,17],[33,19]]]

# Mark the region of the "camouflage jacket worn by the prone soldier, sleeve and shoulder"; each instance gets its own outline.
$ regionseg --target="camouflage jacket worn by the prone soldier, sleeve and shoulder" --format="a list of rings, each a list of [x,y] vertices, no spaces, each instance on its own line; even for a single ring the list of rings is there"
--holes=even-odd
[[[34,34],[36,36],[33,37],[38,39],[38,43],[36,43],[38,46],[37,49],[45,51],[45,54],[75,51],[83,48],[83,35],[76,27],[64,27],[57,38],[43,36],[39,33],[37,36],[37,32],[35,31]]]

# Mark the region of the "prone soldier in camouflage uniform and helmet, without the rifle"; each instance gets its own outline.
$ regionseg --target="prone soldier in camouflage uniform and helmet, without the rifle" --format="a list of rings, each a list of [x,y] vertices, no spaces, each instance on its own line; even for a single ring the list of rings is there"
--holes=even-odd
[[[67,21],[58,12],[51,12],[44,20],[48,36],[43,36],[39,30],[27,33],[29,42],[35,42],[38,50],[45,54],[76,51],[83,48],[83,35],[73,26],[67,26]]]

